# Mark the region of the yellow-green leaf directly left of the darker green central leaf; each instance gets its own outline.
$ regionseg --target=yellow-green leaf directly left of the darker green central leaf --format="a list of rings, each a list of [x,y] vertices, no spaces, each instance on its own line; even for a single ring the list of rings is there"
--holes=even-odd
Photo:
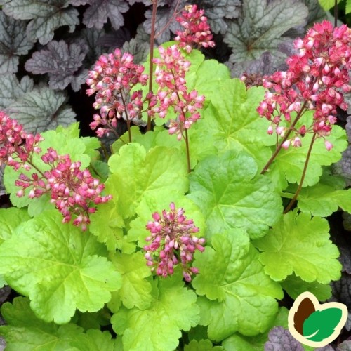
[[[184,155],[185,156],[185,155]],[[188,188],[187,162],[177,149],[145,147],[130,143],[109,159],[111,176],[107,179],[116,191],[117,211],[123,218],[135,215],[135,209],[145,194],[162,197],[166,193],[186,192]]]

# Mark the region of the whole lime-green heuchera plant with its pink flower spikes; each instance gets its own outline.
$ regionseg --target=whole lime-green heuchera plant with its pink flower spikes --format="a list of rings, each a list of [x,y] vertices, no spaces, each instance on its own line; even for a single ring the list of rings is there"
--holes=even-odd
[[[1,308],[8,350],[257,350],[281,326],[274,347],[284,292],[323,301],[340,279],[324,217],[351,212],[331,181],[351,30],[315,24],[249,87],[199,51],[203,11],[177,20],[145,65],[117,48],[89,72],[91,128],[119,137],[107,163],[77,124],[32,135],[0,113],[0,283],[21,295]]]

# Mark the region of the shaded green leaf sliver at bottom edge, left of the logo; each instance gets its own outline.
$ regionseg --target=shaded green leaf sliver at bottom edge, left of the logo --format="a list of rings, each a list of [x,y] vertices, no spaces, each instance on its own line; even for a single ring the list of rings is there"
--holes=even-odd
[[[265,333],[258,334],[257,336],[241,336],[236,333],[229,338],[223,340],[222,345],[225,351],[232,350],[245,350],[245,351],[262,351],[265,348],[265,343],[267,341],[267,335],[274,326],[284,326],[288,328],[288,314],[289,310],[285,307],[280,307],[277,317],[275,317],[274,322],[265,331]]]

